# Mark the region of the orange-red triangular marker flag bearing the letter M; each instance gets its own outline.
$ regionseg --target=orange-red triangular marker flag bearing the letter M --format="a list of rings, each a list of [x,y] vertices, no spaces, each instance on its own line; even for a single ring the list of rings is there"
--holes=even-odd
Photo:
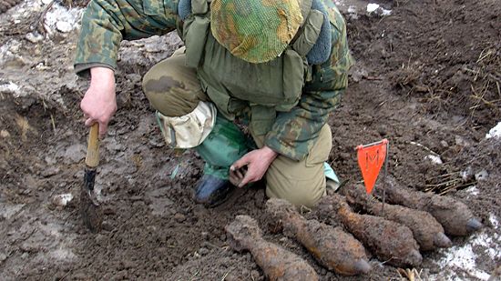
[[[387,152],[387,139],[366,146],[357,146],[358,166],[362,171],[367,194],[373,192],[374,184],[386,159]]]

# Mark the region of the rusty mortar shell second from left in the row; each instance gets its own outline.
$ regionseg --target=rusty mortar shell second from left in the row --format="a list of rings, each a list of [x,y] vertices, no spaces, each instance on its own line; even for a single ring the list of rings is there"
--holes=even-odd
[[[295,238],[329,270],[345,276],[366,274],[371,270],[362,243],[342,227],[332,227],[317,220],[306,220],[283,199],[270,199],[266,211],[280,224],[283,234]]]

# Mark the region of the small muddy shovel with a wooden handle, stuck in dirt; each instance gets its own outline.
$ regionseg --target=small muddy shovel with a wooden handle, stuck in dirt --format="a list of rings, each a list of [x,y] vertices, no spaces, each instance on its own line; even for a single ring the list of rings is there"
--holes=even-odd
[[[96,123],[90,127],[88,134],[86,172],[84,174],[84,186],[80,191],[80,214],[84,225],[96,233],[101,229],[103,216],[97,201],[94,183],[96,180],[96,169],[99,165],[99,125]]]

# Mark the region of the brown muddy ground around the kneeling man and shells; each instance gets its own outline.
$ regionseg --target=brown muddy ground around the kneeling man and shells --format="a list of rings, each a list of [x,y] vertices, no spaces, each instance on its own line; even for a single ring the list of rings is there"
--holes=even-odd
[[[501,6],[383,1],[390,15],[368,15],[367,4],[339,3],[357,64],[330,119],[329,162],[343,180],[359,182],[353,148],[389,139],[390,176],[465,202],[485,225],[453,238],[453,248],[424,253],[421,278],[486,280],[501,265],[501,139],[486,138],[501,121]],[[87,128],[78,103],[87,81],[72,72],[77,32],[57,23],[71,24],[81,10],[56,3],[44,27],[37,18],[46,6],[30,0],[0,15],[0,279],[263,280],[251,255],[233,252],[224,233],[237,215],[265,221],[262,186],[214,209],[194,204],[202,162],[164,146],[141,92],[141,76],[181,45],[174,34],[122,45],[119,109],[97,175],[104,229],[84,228],[77,202]],[[66,14],[53,20],[54,13]],[[400,278],[375,258],[368,276],[338,276],[262,227],[322,280]]]

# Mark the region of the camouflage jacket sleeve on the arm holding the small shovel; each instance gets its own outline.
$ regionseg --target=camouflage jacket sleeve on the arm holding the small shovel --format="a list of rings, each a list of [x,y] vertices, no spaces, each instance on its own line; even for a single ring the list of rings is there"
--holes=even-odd
[[[177,0],[91,0],[82,17],[75,71],[93,66],[117,68],[122,39],[164,35],[176,28]]]

